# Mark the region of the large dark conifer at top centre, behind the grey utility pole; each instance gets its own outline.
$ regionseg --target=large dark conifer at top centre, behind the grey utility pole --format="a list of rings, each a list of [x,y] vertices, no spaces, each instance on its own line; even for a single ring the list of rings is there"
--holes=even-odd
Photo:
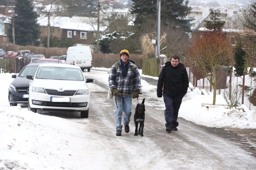
[[[165,25],[189,30],[191,20],[186,20],[185,17],[190,13],[191,7],[187,6],[187,0],[185,4],[183,2],[184,0],[161,0],[161,22]],[[131,13],[136,15],[135,25],[147,24],[148,21],[156,23],[157,0],[132,0]]]

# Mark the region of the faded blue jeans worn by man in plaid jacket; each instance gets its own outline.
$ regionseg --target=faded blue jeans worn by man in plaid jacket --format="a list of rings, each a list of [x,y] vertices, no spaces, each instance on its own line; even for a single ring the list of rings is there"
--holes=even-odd
[[[116,102],[118,108],[116,108]],[[115,103],[115,119],[116,119],[116,130],[122,130],[123,125],[122,123],[122,114],[124,112],[124,125],[128,125],[131,121],[130,117],[132,115],[132,96],[125,96],[119,97],[116,96],[116,102],[114,97]]]

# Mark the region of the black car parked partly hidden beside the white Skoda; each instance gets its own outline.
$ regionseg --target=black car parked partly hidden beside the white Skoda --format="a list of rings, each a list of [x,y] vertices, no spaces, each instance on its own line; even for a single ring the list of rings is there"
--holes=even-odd
[[[32,63],[26,65],[18,74],[12,75],[15,78],[9,86],[8,99],[10,106],[17,106],[18,103],[28,103],[29,99],[29,83],[31,80],[26,78],[26,75],[33,75],[36,72],[38,65],[42,63]]]

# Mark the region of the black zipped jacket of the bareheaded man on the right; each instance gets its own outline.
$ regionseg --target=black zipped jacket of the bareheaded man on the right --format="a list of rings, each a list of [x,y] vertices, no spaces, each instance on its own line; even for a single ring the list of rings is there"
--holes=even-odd
[[[166,94],[170,97],[185,95],[188,89],[188,74],[183,64],[179,63],[176,67],[171,65],[171,62],[166,62],[163,67],[157,83],[157,97],[162,97]],[[162,87],[164,91],[162,94]]]

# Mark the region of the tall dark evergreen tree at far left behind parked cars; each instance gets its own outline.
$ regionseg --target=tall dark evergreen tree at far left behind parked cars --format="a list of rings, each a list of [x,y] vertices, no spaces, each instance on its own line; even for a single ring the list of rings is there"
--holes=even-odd
[[[40,27],[37,23],[38,14],[34,11],[31,0],[16,0],[15,15],[12,16],[15,28],[15,44],[39,45]],[[12,23],[9,24],[8,37],[13,43]]]

